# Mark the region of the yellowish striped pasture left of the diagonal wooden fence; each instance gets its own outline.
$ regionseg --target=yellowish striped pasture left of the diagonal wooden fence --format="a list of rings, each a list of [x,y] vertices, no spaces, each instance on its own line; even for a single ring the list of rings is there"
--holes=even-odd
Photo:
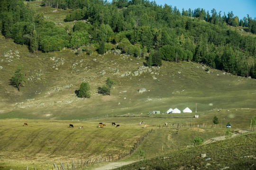
[[[82,124],[86,130],[67,128],[70,121],[62,120],[30,120],[29,126],[24,127],[24,120],[0,120],[0,155],[5,155],[0,159],[0,169],[20,170],[27,165],[38,169],[42,164],[52,169],[53,163],[60,161],[87,160],[109,154],[117,158],[148,131],[129,124],[123,128],[99,129],[93,121],[72,122],[74,127]]]

